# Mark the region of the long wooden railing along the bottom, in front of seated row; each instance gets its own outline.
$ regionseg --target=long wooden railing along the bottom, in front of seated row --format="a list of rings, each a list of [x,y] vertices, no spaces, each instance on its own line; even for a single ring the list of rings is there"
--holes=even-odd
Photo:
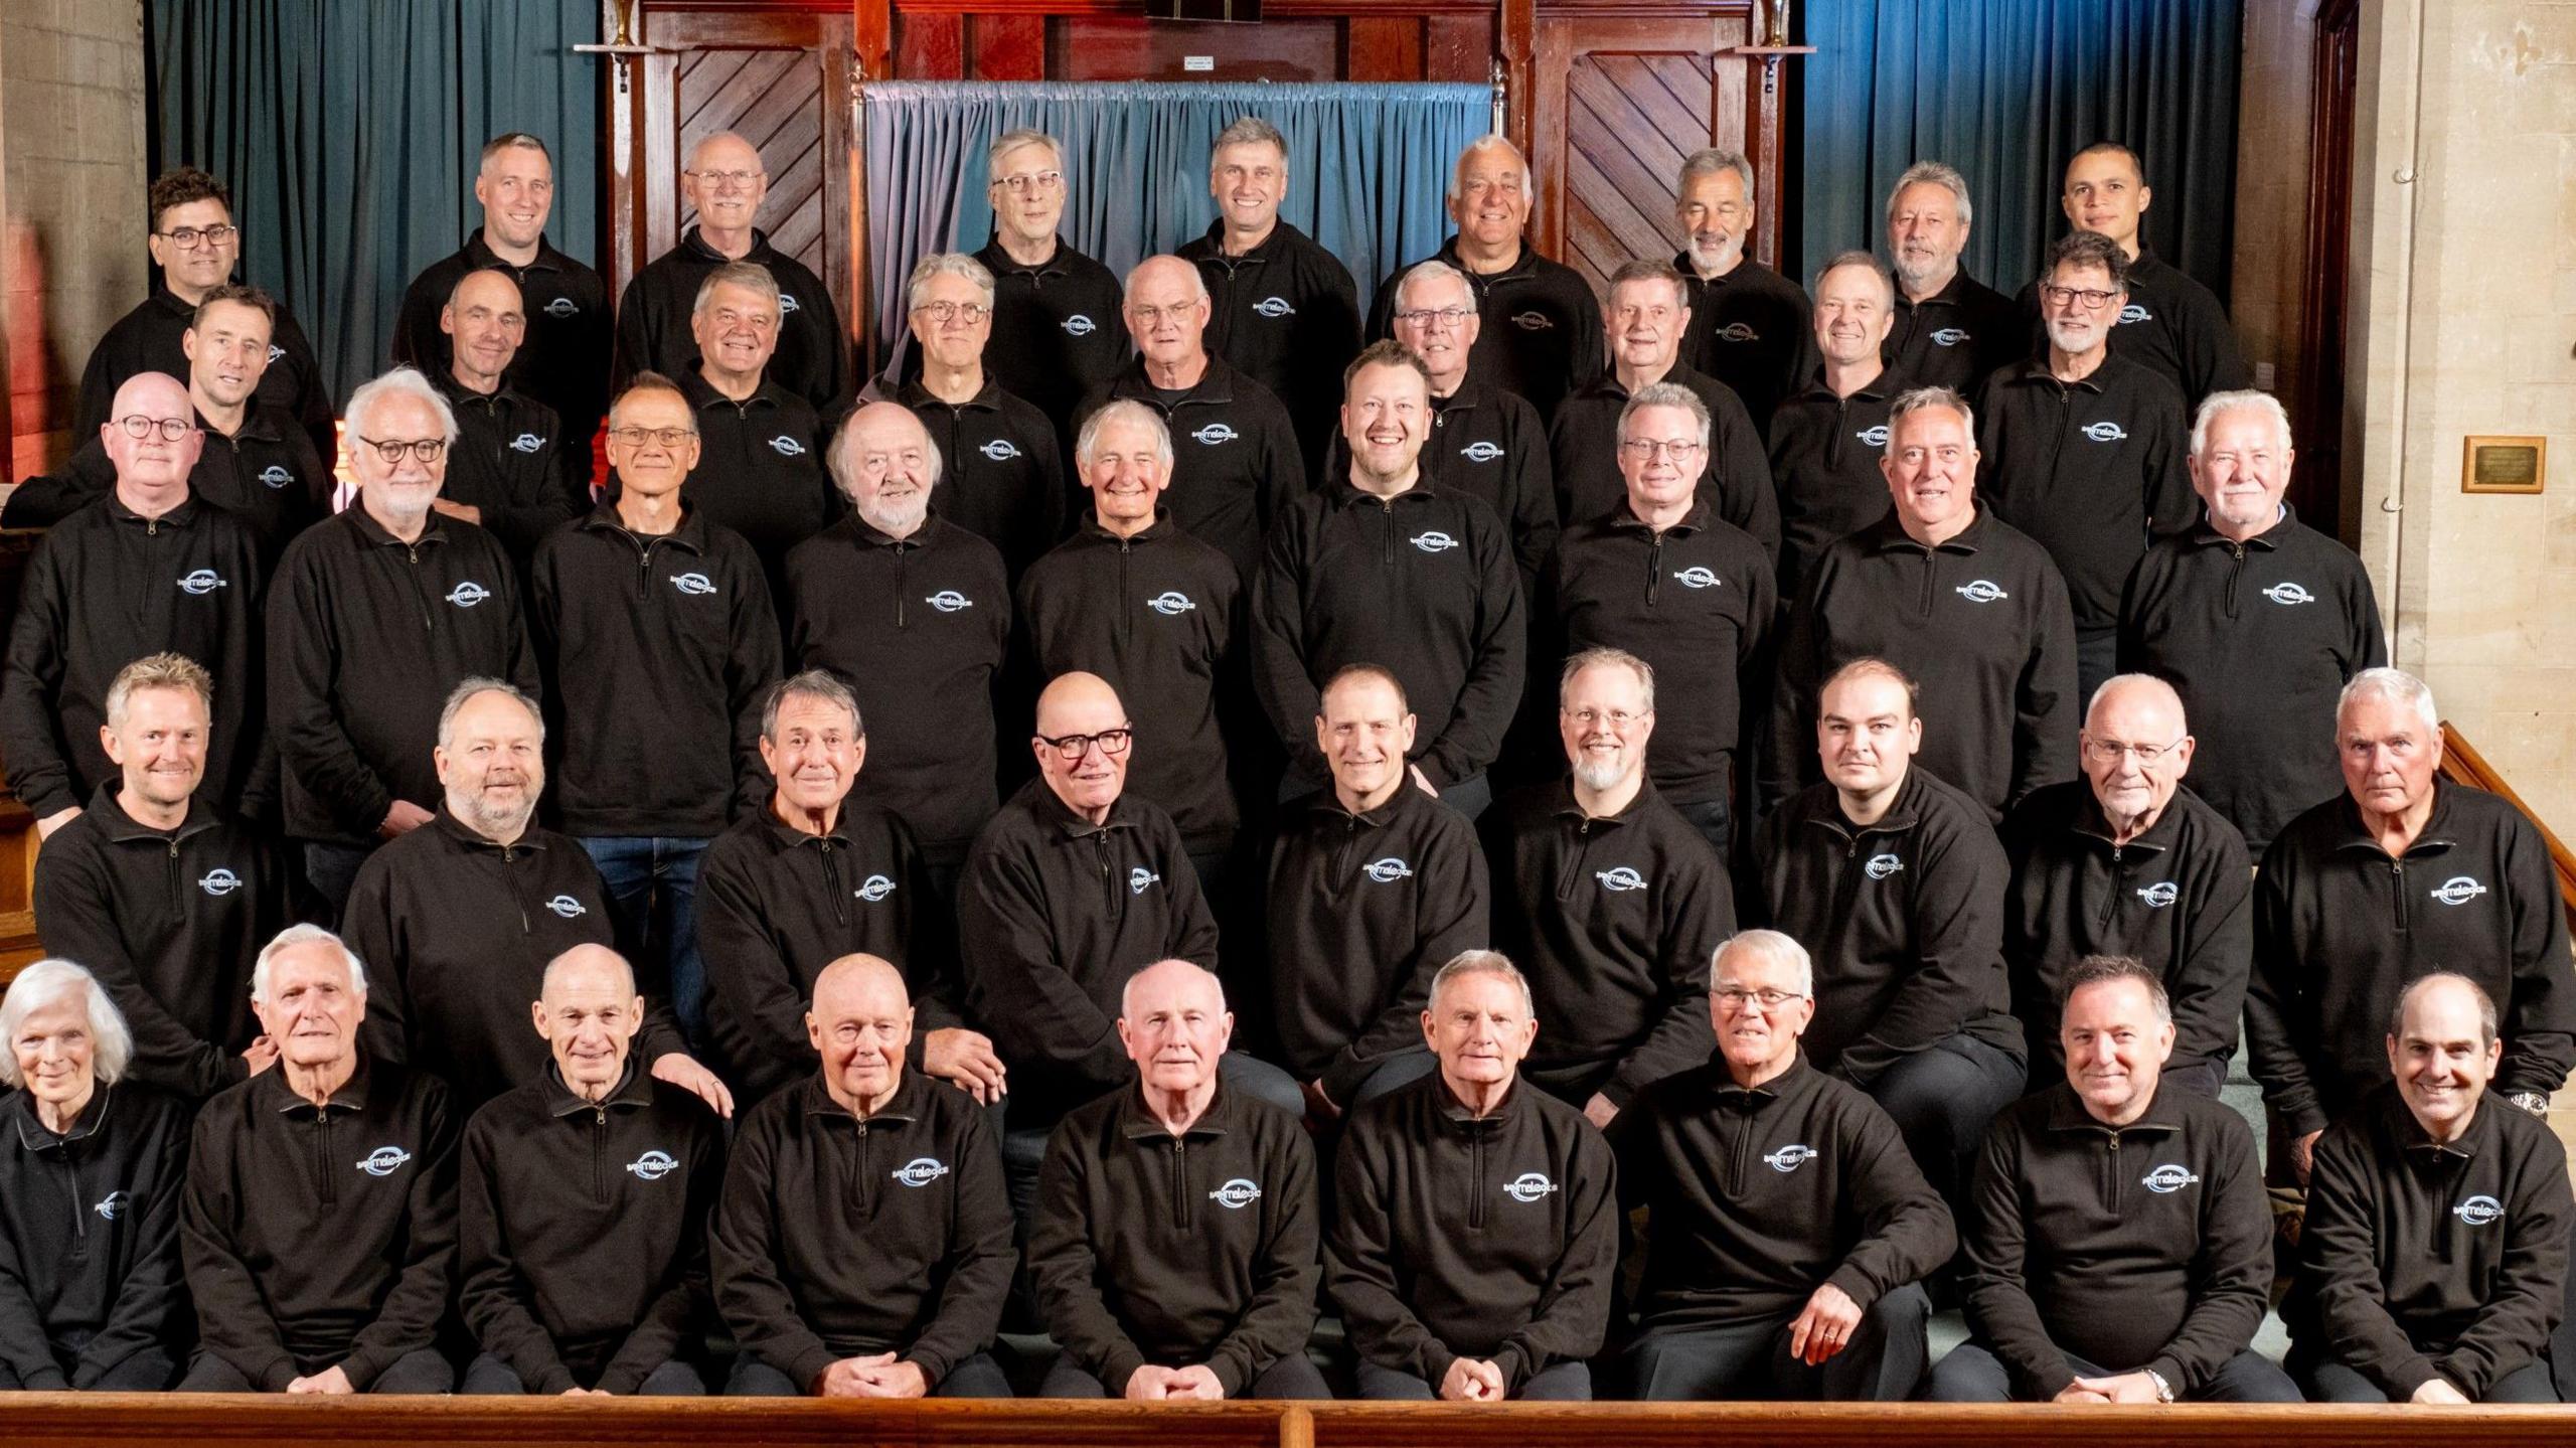
[[[1935,1407],[1935,1404],[1079,1404],[811,1399],[283,1399],[8,1394],[10,1448],[2537,1448],[2563,1407]]]

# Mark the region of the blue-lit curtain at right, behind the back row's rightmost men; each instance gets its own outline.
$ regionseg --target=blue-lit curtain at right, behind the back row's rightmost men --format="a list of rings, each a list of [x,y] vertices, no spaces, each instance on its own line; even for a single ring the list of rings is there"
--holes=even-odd
[[[2014,294],[2066,232],[2089,142],[2146,160],[2141,240],[2228,294],[2244,0],[1834,0],[1806,5],[1803,276],[1886,255],[1888,188],[1945,160],[1976,201],[1968,271]]]

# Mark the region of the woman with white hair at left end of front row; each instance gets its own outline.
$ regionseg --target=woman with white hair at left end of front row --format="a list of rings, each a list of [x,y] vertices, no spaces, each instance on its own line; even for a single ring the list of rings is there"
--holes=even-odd
[[[121,1080],[134,1036],[72,961],[18,971],[0,1046],[0,1389],[165,1389],[188,1108]]]

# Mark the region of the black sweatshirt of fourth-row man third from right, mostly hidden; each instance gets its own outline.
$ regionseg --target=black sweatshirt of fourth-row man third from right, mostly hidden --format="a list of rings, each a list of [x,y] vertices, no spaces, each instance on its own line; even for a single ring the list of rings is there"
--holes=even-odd
[[[1772,492],[1762,428],[1723,381],[1672,363],[1659,381],[1690,389],[1708,407],[1708,453],[1700,459],[1700,497],[1718,518],[1752,533],[1762,551],[1780,557],[1780,500]],[[1618,472],[1618,415],[1628,389],[1605,371],[1566,397],[1548,423],[1548,466],[1556,477],[1556,515],[1569,528],[1607,518],[1628,505],[1628,479]]]

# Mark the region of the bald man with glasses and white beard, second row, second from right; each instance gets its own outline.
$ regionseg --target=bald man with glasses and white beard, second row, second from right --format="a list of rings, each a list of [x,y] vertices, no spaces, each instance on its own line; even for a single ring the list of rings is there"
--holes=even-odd
[[[2254,969],[2254,861],[2236,827],[2182,788],[2192,745],[2164,680],[2115,675],[2084,716],[2084,778],[2004,819],[2004,969],[2032,1090],[2066,1074],[2058,1000],[2087,956],[2133,956],[2161,982],[2169,1092],[2215,1100],[2228,1080]]]

